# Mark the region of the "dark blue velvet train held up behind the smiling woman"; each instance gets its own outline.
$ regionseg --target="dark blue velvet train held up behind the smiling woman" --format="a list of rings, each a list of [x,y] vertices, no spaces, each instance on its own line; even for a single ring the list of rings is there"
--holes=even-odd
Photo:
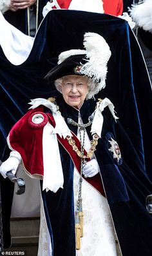
[[[101,170],[105,184],[109,181],[108,176],[108,181],[106,181],[105,173],[107,173],[109,177],[111,177],[110,175],[113,173],[113,179],[111,179],[112,183],[110,183],[111,186],[108,184],[108,200],[111,204],[111,210],[113,210],[113,217],[115,217],[115,226],[118,227],[117,232],[121,233],[121,231],[124,230],[123,235],[119,235],[119,240],[122,239],[122,243],[127,244],[122,251],[126,253],[124,255],[131,255],[131,251],[128,252],[128,240],[131,235],[135,238],[135,233],[133,235],[133,232],[138,230],[138,228],[140,228],[142,232],[137,232],[137,241],[139,238],[142,239],[143,246],[147,244],[147,250],[150,250],[151,221],[149,221],[149,219],[151,219],[151,217],[145,212],[144,201],[147,193],[151,193],[151,186],[146,177],[146,172],[150,179],[152,179],[152,94],[151,84],[149,83],[142,54],[135,36],[126,21],[105,14],[53,10],[46,15],[46,18],[41,24],[35,38],[32,52],[25,63],[19,66],[10,64],[1,50],[1,160],[4,161],[8,155],[8,150],[6,150],[6,135],[8,135],[12,125],[26,112],[26,103],[35,97],[47,98],[56,95],[55,88],[48,86],[46,81],[43,80],[43,77],[57,63],[57,56],[62,51],[71,48],[83,48],[82,39],[84,32],[96,32],[102,35],[108,42],[112,52],[108,63],[106,88],[102,90],[97,97],[108,97],[115,105],[115,110],[120,118],[120,124],[118,121],[117,128],[115,128],[114,131],[116,132],[116,130],[118,130],[117,141],[121,152],[125,154],[125,162],[127,162],[127,164],[124,164],[123,168],[119,166],[118,171],[118,168],[112,161],[113,159],[107,154],[106,158],[102,159],[104,167],[101,168]],[[110,129],[111,127],[110,124]],[[108,132],[111,133],[111,130],[107,130],[107,133]],[[130,142],[131,152],[136,156],[136,158],[133,159],[131,159],[133,155],[130,154],[128,150],[128,144],[130,146]],[[121,143],[123,143],[122,146]],[[109,166],[107,166],[108,164]],[[111,168],[111,164],[114,164],[112,165],[113,168]],[[130,164],[131,167],[128,167]],[[106,171],[107,169],[108,171]],[[115,172],[112,172],[112,170],[115,170]],[[114,179],[115,173],[119,173],[120,170],[121,175],[123,173],[123,179],[125,177],[127,190],[125,190],[125,193],[124,190],[123,193],[117,191],[117,195],[115,196],[117,203],[115,203],[115,200],[113,201],[110,195],[111,192],[113,192],[113,182],[116,183],[116,179]],[[132,170],[132,172],[129,172],[129,170]],[[119,176],[119,181],[121,181],[121,175]],[[2,195],[5,246],[9,246],[10,212],[6,202],[8,200],[11,201],[11,194],[6,190],[6,188],[8,188],[6,182],[8,182],[7,179],[1,182],[1,190],[5,193],[5,197]],[[132,201],[130,203],[127,200],[126,191],[131,199],[132,197],[135,199],[134,204]],[[125,200],[123,201],[122,199]],[[133,204],[133,208],[131,208],[131,204]],[[5,215],[6,212],[7,216]],[[126,215],[124,215],[124,212]],[[143,215],[145,221],[142,219]],[[131,221],[132,219],[133,223]],[[137,219],[142,219],[142,221],[140,221],[143,222],[142,228],[138,227],[138,224],[135,225]],[[122,225],[119,226],[120,223]],[[135,229],[135,226],[137,229]],[[128,232],[129,228],[132,230],[132,233]],[[142,237],[142,233],[146,236]],[[129,244],[133,246],[131,241],[129,240]],[[137,254],[137,251],[135,253],[135,248],[138,247],[137,243],[140,244],[140,242],[135,242],[133,255]],[[140,251],[138,255],[144,255],[141,248]],[[147,255],[149,255],[148,253]]]

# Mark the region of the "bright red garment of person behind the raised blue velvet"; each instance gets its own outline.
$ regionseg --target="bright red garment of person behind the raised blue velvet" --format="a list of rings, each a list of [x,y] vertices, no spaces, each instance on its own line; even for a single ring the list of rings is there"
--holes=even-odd
[[[104,13],[111,15],[122,15],[123,1],[122,0],[101,0],[104,3]],[[63,9],[68,9],[71,0],[57,0],[59,6]]]

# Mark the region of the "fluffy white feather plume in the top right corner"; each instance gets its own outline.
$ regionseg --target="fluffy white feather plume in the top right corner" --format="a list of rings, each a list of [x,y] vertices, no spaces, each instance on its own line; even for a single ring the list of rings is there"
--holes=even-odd
[[[152,33],[152,1],[144,0],[129,8],[130,15],[136,25]]]

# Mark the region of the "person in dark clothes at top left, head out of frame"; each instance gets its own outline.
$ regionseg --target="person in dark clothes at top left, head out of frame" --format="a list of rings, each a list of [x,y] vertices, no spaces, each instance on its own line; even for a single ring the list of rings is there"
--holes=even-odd
[[[35,36],[43,19],[44,0],[0,0],[0,10],[11,25],[26,35]]]

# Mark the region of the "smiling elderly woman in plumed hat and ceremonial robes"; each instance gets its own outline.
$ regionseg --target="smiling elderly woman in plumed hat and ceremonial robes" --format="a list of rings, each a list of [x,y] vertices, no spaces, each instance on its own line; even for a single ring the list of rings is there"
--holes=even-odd
[[[142,204],[151,184],[136,161],[131,170],[129,157],[137,154],[113,104],[94,97],[105,86],[111,52],[94,33],[84,35],[84,47],[59,55],[46,75],[59,96],[32,100],[8,135],[12,152],[0,171],[15,173],[22,160],[28,176],[41,180],[39,256],[116,256],[114,230],[123,256],[150,256],[143,237],[151,217]],[[128,148],[123,161],[117,137]],[[134,184],[143,190],[140,204]]]

